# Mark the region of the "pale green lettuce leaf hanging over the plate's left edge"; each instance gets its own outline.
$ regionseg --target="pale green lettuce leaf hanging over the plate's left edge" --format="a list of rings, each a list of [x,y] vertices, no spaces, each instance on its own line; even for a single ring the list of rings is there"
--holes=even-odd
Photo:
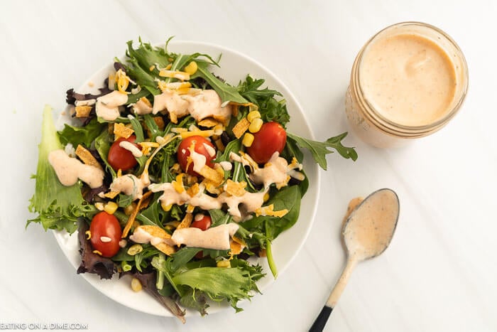
[[[51,151],[62,149],[50,106],[43,109],[41,134],[38,167],[33,176],[36,181],[35,193],[28,207],[32,213],[38,213],[38,217],[28,220],[26,227],[30,223],[40,223],[45,230],[50,228],[72,233],[77,230],[77,220],[94,208],[84,201],[78,184],[63,186],[48,162]]]

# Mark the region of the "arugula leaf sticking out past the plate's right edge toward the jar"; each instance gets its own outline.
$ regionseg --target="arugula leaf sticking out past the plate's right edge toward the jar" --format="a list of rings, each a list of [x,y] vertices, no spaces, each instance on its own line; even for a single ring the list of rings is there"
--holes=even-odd
[[[333,151],[329,150],[328,148],[337,150],[337,152],[345,159],[352,159],[353,161],[356,161],[356,150],[354,150],[354,148],[349,148],[342,145],[342,139],[344,139],[345,136],[347,136],[346,132],[338,136],[330,137],[326,141],[320,142],[312,141],[312,139],[305,139],[303,137],[287,132],[287,137],[293,139],[297,146],[309,150],[317,164],[319,164],[325,171],[327,168],[326,155],[333,153]]]

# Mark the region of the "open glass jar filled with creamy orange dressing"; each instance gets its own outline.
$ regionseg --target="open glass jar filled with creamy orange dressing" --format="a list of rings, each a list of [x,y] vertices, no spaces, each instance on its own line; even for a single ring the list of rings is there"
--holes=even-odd
[[[357,55],[346,116],[366,143],[402,146],[444,127],[467,87],[466,60],[452,38],[426,23],[398,23],[373,36]]]

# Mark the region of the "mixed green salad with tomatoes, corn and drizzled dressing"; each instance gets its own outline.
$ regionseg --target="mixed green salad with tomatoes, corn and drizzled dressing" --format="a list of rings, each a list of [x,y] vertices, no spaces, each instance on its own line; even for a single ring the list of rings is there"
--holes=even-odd
[[[229,85],[211,71],[219,58],[129,41],[98,94],[67,91],[74,125],[57,132],[45,107],[29,205],[28,224],[79,231],[78,273],[130,274],[183,322],[209,300],[241,310],[265,275],[250,257],[276,277],[271,243],[309,186],[302,148],[324,169],[334,150],[357,158],[346,133],[287,132],[280,92],[250,75]]]

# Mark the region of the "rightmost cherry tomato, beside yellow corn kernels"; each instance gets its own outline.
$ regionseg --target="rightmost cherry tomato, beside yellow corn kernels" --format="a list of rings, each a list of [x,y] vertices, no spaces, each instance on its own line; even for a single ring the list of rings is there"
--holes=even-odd
[[[253,143],[247,152],[257,164],[266,164],[276,151],[283,151],[285,144],[285,128],[278,122],[266,122],[253,134]]]

